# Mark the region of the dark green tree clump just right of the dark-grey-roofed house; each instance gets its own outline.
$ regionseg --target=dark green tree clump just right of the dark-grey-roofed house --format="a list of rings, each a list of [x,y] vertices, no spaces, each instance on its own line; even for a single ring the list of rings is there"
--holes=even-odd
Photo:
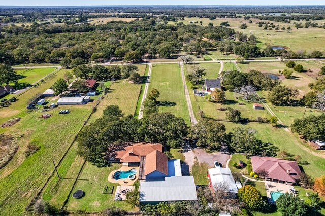
[[[272,79],[257,70],[250,70],[249,73],[241,73],[237,70],[223,71],[220,78],[222,79],[222,86],[231,91],[246,85],[250,85],[256,90],[271,90],[281,83],[279,80]]]

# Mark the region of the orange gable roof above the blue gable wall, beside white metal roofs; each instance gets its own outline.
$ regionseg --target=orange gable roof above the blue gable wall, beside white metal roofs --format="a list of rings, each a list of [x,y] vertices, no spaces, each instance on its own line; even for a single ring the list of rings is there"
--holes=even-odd
[[[146,156],[144,174],[148,175],[154,171],[168,175],[167,155],[158,150],[154,150]]]

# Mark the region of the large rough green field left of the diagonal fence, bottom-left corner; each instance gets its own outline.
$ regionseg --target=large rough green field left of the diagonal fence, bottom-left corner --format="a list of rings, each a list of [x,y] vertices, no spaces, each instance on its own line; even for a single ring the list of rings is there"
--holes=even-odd
[[[39,118],[34,111],[12,127],[0,132],[21,134],[19,150],[10,163],[0,170],[0,214],[21,215],[29,201],[36,196],[50,176],[56,163],[71,145],[83,122],[91,113],[91,106],[64,106],[70,114],[59,115],[59,108],[48,113],[48,119]],[[41,149],[25,158],[27,143],[35,142]]]

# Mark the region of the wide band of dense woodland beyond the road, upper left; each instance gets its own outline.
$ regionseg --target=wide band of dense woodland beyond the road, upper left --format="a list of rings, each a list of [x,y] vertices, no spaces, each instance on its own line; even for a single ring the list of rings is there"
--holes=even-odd
[[[171,57],[187,44],[204,51],[213,47],[210,42],[201,44],[202,38],[215,41],[235,34],[233,29],[223,26],[167,25],[157,23],[156,19],[112,21],[97,26],[13,25],[0,31],[3,32],[0,63],[57,63],[78,59],[78,64],[106,61],[111,57],[138,61],[146,54],[149,58]]]

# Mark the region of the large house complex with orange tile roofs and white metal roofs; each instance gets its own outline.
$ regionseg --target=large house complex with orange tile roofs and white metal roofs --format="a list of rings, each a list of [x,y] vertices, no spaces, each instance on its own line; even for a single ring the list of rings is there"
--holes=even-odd
[[[160,143],[128,145],[109,160],[139,166],[142,204],[198,199],[193,176],[182,176],[180,160],[168,160]]]

